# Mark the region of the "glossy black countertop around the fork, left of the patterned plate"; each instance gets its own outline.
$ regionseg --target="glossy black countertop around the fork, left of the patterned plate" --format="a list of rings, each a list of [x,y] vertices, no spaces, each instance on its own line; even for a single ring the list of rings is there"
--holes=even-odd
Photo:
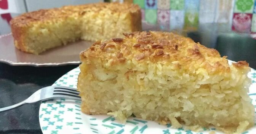
[[[0,63],[0,107],[23,101],[77,66],[30,67]],[[0,113],[0,134],[42,134],[39,107],[37,102]]]

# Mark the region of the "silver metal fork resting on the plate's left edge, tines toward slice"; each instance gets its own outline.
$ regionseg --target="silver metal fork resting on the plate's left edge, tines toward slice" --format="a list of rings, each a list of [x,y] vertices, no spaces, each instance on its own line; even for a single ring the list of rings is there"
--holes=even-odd
[[[9,107],[0,108],[0,112],[8,111],[24,104],[30,104],[38,101],[45,101],[49,99],[66,98],[81,101],[81,97],[78,96],[79,92],[75,88],[69,88],[66,86],[47,86],[41,88],[28,97],[26,100],[19,102],[18,104],[11,105]]]

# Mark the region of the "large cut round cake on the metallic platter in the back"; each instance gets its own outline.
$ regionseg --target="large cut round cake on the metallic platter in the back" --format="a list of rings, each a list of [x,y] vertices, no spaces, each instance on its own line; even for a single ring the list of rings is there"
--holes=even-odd
[[[24,13],[11,20],[15,46],[39,54],[78,39],[96,41],[141,30],[141,12],[130,3],[95,3]]]

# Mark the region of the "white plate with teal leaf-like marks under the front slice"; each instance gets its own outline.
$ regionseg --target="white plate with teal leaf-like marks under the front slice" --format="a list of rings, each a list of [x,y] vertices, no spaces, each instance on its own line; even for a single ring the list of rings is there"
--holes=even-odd
[[[59,78],[53,85],[76,88],[80,72],[75,68]],[[250,86],[250,97],[256,105],[256,70],[248,73],[253,84]],[[40,105],[39,121],[43,134],[209,134],[214,128],[203,132],[171,128],[170,124],[160,125],[154,121],[139,118],[128,118],[121,124],[110,115],[86,115],[80,111],[80,101],[54,99]],[[216,134],[222,134],[216,131]],[[256,126],[243,134],[256,134]]]

